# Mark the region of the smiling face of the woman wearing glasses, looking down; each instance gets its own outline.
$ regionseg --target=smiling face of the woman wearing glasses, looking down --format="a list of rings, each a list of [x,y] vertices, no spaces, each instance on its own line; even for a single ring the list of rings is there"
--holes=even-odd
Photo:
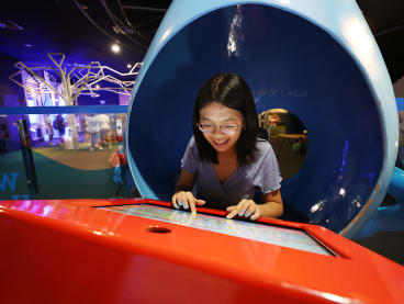
[[[210,127],[214,126],[211,133],[202,132],[202,134],[217,153],[235,149],[244,125],[243,114],[239,111],[217,102],[211,102],[203,106],[199,114],[200,124]],[[232,127],[234,131],[229,133],[223,132],[228,132]]]

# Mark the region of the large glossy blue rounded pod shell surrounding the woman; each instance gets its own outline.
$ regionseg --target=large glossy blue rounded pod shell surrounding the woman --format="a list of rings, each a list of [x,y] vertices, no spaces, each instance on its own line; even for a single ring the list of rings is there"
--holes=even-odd
[[[283,108],[307,127],[306,160],[282,183],[288,210],[352,236],[380,205],[396,157],[396,104],[380,52],[355,1],[250,2],[171,4],[130,108],[138,189],[170,201],[200,87],[216,72],[237,72],[258,112]]]

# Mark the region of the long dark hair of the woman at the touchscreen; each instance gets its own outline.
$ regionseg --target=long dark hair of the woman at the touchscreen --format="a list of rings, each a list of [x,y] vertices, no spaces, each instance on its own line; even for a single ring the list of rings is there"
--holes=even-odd
[[[243,114],[244,128],[236,143],[240,166],[251,164],[257,157],[258,115],[254,97],[247,82],[236,74],[214,75],[200,89],[193,108],[192,130],[201,160],[217,164],[216,150],[198,127],[200,111],[211,102],[218,102]]]

